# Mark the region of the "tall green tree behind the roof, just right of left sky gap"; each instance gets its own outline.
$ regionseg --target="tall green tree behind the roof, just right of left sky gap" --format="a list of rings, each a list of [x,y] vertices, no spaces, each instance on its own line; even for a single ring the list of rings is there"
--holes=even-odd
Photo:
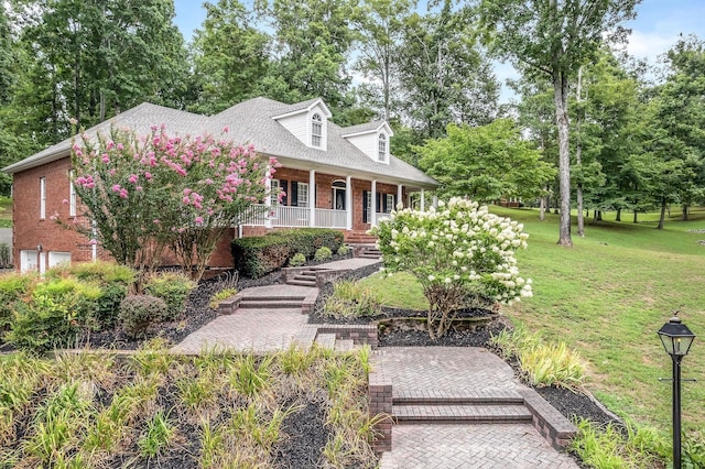
[[[195,111],[219,112],[265,95],[270,37],[251,26],[252,13],[238,0],[206,2],[206,19],[193,41]]]

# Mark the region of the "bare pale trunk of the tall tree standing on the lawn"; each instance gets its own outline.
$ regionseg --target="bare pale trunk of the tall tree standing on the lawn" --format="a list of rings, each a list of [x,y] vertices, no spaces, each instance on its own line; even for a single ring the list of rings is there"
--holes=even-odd
[[[568,146],[568,80],[564,73],[553,73],[555,120],[558,128],[558,192],[561,219],[558,244],[572,247],[571,239],[571,153]]]

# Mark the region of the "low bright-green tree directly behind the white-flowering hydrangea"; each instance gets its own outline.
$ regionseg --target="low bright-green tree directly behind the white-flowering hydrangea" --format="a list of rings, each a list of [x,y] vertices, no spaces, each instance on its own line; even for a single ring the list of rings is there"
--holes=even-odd
[[[416,151],[421,168],[442,184],[445,196],[535,198],[555,174],[510,119],[476,128],[449,124],[447,137],[429,140]]]

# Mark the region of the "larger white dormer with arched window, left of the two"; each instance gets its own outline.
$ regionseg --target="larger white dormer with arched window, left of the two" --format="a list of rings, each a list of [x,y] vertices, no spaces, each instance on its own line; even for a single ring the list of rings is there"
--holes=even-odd
[[[274,116],[276,122],[290,131],[304,145],[326,151],[328,149],[328,119],[330,111],[323,99],[301,102],[293,110]]]

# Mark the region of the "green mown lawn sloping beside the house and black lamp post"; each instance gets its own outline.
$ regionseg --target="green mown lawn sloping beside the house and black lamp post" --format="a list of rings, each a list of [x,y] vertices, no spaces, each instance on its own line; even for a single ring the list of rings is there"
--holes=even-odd
[[[557,215],[539,221],[538,210],[492,207],[498,215],[524,223],[529,248],[518,253],[522,276],[533,279],[534,296],[503,313],[516,323],[541,330],[549,339],[564,340],[588,360],[588,388],[610,410],[666,432],[671,424],[671,384],[658,378],[671,375],[657,330],[675,309],[701,337],[683,361],[683,424],[705,426],[705,212],[679,221],[672,212],[664,230],[655,230],[658,214],[641,215],[643,222],[606,221],[589,225],[586,237],[573,236],[573,248],[556,246]],[[401,280],[401,283],[400,283]],[[413,281],[394,275],[368,281],[391,296],[391,303],[424,305]],[[416,290],[416,292],[413,292]],[[412,293],[413,292],[413,293]],[[395,299],[394,299],[395,298]]]

